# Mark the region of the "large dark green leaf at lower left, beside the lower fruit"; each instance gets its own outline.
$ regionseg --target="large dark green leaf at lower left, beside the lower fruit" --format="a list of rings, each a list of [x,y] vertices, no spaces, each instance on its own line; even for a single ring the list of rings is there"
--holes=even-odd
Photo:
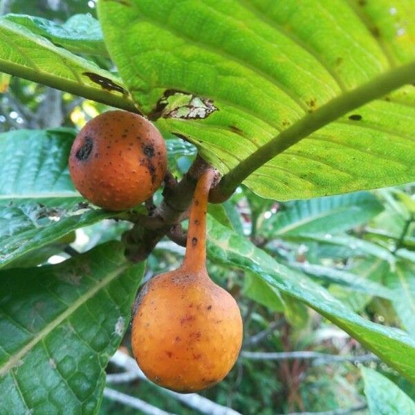
[[[0,273],[1,414],[96,414],[143,270],[108,243]]]

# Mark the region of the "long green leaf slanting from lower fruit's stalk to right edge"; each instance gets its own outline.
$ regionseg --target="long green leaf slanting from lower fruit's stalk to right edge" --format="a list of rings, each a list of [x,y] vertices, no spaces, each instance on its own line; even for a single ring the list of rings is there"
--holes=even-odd
[[[415,380],[415,340],[406,333],[353,313],[306,275],[277,263],[266,252],[212,218],[208,221],[208,241],[208,255],[212,261],[255,273],[270,286],[314,308],[400,374]]]

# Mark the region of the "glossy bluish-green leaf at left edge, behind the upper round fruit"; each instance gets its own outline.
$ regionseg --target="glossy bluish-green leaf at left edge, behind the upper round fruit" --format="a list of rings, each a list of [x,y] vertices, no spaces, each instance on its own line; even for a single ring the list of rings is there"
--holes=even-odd
[[[68,172],[75,131],[0,134],[0,267],[111,217],[85,205]]]

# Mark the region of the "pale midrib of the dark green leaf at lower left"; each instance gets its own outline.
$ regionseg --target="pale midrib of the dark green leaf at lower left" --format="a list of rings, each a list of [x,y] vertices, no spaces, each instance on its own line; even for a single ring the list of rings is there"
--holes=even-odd
[[[100,291],[101,288],[104,288],[104,286],[107,286],[113,279],[118,277],[120,273],[122,273],[124,270],[127,269],[127,265],[120,266],[118,270],[113,271],[113,273],[110,273],[107,277],[102,279],[100,282],[97,282],[90,291],[87,291],[83,295],[81,295],[71,306],[69,306],[66,311],[64,311],[61,315],[55,318],[52,322],[50,322],[48,325],[44,327],[41,331],[39,331],[35,337],[26,344],[26,346],[22,347],[17,353],[10,356],[10,359],[6,361],[5,365],[3,367],[0,367],[0,376],[4,376],[8,373],[10,369],[15,367],[17,363],[23,358],[26,353],[28,353],[30,350],[32,350],[37,343],[41,342],[46,338],[46,336],[53,331],[59,324],[64,322],[67,317],[69,317],[72,313],[74,313],[77,308],[80,308],[85,302],[87,302],[89,299],[91,299],[98,291]]]

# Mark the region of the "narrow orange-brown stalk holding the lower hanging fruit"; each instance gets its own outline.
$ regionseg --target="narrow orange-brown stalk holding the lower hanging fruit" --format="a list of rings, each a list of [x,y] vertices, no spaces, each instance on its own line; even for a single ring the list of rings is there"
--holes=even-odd
[[[189,230],[187,231],[186,255],[183,268],[199,273],[206,263],[206,212],[210,187],[215,172],[207,169],[196,185],[190,208]]]

